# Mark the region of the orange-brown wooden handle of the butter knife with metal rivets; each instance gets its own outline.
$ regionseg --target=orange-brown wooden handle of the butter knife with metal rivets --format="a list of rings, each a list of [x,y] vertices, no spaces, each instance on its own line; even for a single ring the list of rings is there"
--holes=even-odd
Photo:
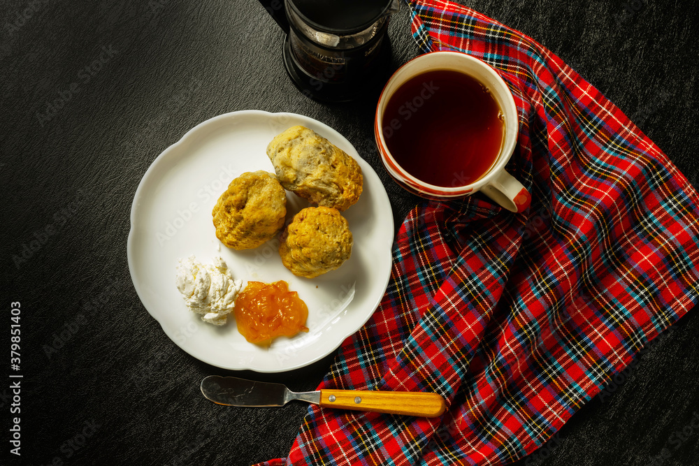
[[[433,418],[447,404],[442,395],[414,391],[331,390],[320,391],[320,406]]]

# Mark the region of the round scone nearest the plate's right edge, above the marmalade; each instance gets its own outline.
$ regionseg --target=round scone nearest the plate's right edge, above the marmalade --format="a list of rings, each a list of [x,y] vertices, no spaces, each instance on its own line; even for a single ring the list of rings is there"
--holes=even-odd
[[[298,277],[315,278],[343,265],[352,254],[347,220],[331,207],[306,207],[282,233],[284,267]]]

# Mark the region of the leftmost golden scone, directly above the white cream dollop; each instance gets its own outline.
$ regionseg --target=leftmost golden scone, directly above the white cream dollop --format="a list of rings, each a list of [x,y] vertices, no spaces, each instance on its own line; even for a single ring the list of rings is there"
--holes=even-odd
[[[212,210],[216,238],[233,249],[252,249],[284,226],[287,196],[266,171],[246,172],[231,181]]]

